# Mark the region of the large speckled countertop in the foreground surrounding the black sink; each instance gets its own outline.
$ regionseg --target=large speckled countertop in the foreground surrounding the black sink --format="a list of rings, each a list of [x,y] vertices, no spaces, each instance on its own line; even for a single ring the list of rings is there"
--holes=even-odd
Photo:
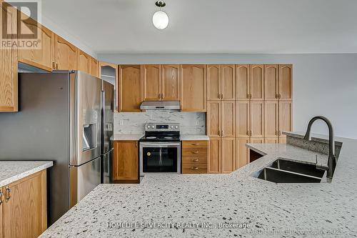
[[[256,179],[251,174],[278,157],[316,162],[317,154],[322,162],[327,155],[290,144],[248,144],[264,156],[231,174],[149,175],[141,184],[101,184],[41,237],[353,237],[357,140],[336,140],[343,145],[331,183]],[[126,227],[119,228],[121,222]],[[175,224],[153,229],[141,222]],[[241,226],[247,228],[236,228]]]

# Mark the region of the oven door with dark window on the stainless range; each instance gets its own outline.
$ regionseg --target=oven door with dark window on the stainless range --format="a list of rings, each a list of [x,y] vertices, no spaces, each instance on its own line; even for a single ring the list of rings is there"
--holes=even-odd
[[[140,142],[140,176],[181,174],[180,142]]]

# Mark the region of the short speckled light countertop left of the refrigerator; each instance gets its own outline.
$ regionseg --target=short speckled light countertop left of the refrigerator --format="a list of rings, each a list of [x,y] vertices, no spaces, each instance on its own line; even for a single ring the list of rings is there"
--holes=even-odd
[[[0,161],[0,187],[53,165],[51,161]]]

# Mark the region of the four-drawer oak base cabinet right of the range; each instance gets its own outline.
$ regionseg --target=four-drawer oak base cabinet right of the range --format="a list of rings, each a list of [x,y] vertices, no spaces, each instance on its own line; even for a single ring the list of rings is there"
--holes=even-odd
[[[182,173],[206,174],[207,173],[207,141],[182,142]]]

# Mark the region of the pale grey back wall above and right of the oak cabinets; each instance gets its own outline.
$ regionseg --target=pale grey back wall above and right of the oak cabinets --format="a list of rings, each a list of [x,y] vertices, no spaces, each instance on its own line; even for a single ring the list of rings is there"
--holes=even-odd
[[[114,64],[293,64],[293,130],[316,115],[357,139],[357,54],[99,54]],[[316,122],[313,132],[327,134]]]

